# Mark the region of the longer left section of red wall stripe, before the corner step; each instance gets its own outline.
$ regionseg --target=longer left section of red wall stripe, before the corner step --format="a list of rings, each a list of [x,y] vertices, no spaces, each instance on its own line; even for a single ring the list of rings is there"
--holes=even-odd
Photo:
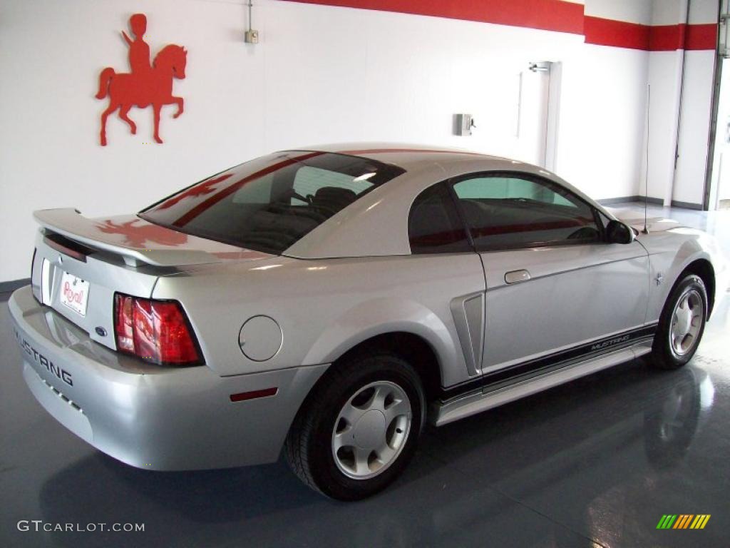
[[[583,5],[563,0],[288,0],[583,34]]]

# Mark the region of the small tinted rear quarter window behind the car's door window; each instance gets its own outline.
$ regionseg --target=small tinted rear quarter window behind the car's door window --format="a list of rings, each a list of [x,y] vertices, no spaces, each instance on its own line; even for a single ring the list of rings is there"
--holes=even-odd
[[[439,183],[421,192],[408,216],[411,253],[472,251],[449,189]]]

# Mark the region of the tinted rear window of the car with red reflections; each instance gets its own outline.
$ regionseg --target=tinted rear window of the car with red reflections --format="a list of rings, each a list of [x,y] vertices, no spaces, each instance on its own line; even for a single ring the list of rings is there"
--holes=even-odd
[[[142,210],[151,223],[282,254],[404,170],[345,154],[287,151],[247,161]]]

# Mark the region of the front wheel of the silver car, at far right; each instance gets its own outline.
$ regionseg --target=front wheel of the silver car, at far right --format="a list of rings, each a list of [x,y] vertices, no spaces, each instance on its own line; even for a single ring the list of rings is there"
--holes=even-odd
[[[707,321],[707,290],[698,275],[677,283],[664,304],[652,347],[651,364],[677,369],[694,357]]]

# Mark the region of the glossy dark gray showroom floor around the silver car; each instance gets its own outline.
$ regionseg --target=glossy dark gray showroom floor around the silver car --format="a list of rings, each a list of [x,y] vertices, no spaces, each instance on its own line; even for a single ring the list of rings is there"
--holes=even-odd
[[[664,213],[715,232],[730,256],[730,211]],[[28,392],[1,302],[0,546],[726,547],[728,300],[682,370],[629,362],[428,430],[396,484],[350,504],[284,463],[159,473],[97,452]],[[712,517],[704,530],[656,530],[663,514]],[[145,531],[23,532],[19,520]]]

